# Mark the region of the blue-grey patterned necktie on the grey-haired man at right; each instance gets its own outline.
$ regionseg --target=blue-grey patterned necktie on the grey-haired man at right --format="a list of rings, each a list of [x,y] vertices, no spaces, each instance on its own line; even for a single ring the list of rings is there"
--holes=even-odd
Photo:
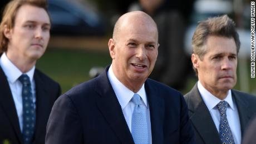
[[[228,119],[227,119],[227,108],[228,102],[220,101],[217,105],[218,110],[220,112],[220,125],[219,125],[219,137],[220,141],[223,144],[235,143],[232,135],[232,131],[230,130]]]

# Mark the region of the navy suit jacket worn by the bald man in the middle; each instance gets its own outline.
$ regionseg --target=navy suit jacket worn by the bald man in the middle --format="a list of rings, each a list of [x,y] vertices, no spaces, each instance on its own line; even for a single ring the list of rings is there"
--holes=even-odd
[[[58,98],[47,123],[47,144],[134,143],[107,69]],[[150,79],[145,82],[145,90],[152,143],[194,143],[181,93]]]

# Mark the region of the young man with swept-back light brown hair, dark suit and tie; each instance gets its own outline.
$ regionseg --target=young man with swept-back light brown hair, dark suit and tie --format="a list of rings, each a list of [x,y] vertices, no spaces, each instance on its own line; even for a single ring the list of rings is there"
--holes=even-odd
[[[13,0],[0,26],[0,143],[45,143],[60,85],[35,68],[50,38],[46,1]]]

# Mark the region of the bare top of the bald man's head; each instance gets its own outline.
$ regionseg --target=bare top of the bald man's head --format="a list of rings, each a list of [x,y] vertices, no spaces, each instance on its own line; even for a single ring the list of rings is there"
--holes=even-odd
[[[118,34],[120,33],[122,28],[125,28],[129,25],[134,27],[151,27],[155,28],[157,31],[157,26],[155,21],[145,12],[142,11],[134,11],[123,14],[119,19],[117,19],[114,31],[113,38],[118,39]],[[158,38],[158,32],[157,32]]]

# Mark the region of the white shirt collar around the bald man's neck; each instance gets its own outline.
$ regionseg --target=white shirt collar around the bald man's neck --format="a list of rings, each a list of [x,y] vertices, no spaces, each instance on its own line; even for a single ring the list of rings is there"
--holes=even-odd
[[[115,91],[117,100],[119,101],[122,110],[127,106],[127,104],[131,101],[131,98],[134,96],[134,92],[129,90],[124,84],[122,84],[115,76],[113,70],[112,70],[112,64],[109,68],[109,71],[107,72],[107,77],[109,77],[109,81],[111,83],[111,86],[113,90]],[[147,97],[146,97],[146,91],[144,84],[140,88],[140,90],[137,92],[138,95],[142,98],[142,101],[144,102],[144,105],[147,107]]]

